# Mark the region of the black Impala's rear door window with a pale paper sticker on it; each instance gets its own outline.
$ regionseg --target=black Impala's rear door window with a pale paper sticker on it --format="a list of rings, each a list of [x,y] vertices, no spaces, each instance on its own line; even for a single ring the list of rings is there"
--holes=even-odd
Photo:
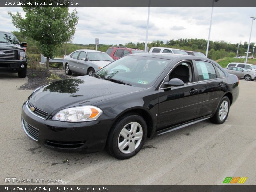
[[[196,61],[196,67],[199,75],[199,81],[217,78],[212,63],[208,63],[206,61]]]

